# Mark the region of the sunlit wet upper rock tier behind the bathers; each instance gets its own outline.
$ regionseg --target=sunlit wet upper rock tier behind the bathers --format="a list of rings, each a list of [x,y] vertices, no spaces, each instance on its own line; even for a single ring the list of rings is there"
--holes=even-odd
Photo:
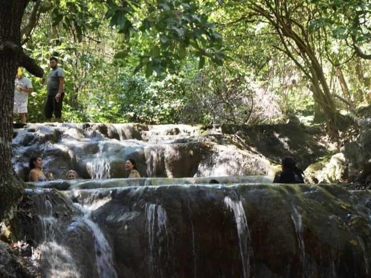
[[[143,177],[181,178],[273,174],[269,160],[279,162],[284,155],[294,155],[300,157],[299,165],[307,166],[322,151],[310,133],[296,124],[255,129],[28,124],[14,130],[12,162],[25,181],[29,159],[35,155],[44,158],[44,171],[52,171],[54,178],[64,178],[69,169],[84,179],[125,178],[127,158],[136,160]]]

